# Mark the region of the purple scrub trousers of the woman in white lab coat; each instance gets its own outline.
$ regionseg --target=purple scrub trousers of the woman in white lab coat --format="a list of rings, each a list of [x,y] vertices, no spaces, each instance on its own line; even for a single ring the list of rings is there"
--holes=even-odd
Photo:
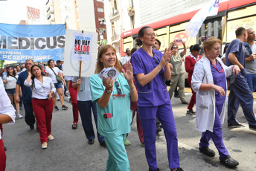
[[[223,143],[223,129],[220,121],[220,113],[223,109],[223,104],[215,105],[215,120],[214,120],[214,132],[206,131],[202,132],[202,137],[199,143],[199,148],[209,146],[209,141],[212,139],[214,145],[218,149],[220,160],[228,156],[228,150]]]

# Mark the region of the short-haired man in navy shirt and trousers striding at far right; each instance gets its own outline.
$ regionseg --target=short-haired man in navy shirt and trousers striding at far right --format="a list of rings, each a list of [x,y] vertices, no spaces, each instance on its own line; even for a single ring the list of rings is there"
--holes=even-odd
[[[246,42],[248,33],[245,28],[237,28],[235,31],[237,39],[234,39],[228,46],[225,53],[225,65],[238,65],[241,72],[230,78],[230,93],[228,95],[228,127],[245,126],[236,119],[239,104],[243,109],[249,128],[256,131],[256,119],[253,113],[253,96],[246,82],[245,54],[243,42]]]

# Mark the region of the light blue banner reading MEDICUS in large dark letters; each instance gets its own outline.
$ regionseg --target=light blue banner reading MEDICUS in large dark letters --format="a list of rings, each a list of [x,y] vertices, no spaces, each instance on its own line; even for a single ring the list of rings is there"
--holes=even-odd
[[[65,25],[9,25],[0,23],[0,60],[48,61],[64,59]]]

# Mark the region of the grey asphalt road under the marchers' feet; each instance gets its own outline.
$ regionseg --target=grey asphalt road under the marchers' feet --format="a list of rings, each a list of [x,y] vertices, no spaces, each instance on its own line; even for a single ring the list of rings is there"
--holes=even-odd
[[[186,93],[186,100],[189,101],[190,97],[191,93]],[[231,170],[220,164],[218,155],[210,158],[199,153],[198,143],[201,133],[196,131],[195,117],[185,114],[187,106],[182,105],[179,98],[173,97],[171,101],[178,133],[181,167],[187,171]],[[60,108],[60,102],[58,103]],[[53,113],[51,123],[54,141],[48,142],[47,149],[41,149],[39,133],[36,130],[31,130],[24,119],[17,119],[14,125],[4,124],[3,140],[7,147],[7,171],[106,170],[107,150],[100,146],[97,138],[93,145],[89,145],[80,120],[78,128],[71,129],[71,103],[66,101],[65,105],[68,106],[68,110],[54,111]],[[25,114],[24,109],[21,110],[21,113]],[[229,129],[225,122],[223,126],[225,146],[231,157],[240,163],[234,170],[255,171],[256,132],[249,130],[241,108],[237,113],[237,119],[246,123],[246,127]],[[138,140],[135,120],[132,123],[128,139],[131,145],[126,149],[131,170],[148,170],[144,147],[140,146]],[[212,141],[210,148],[218,154]],[[157,137],[156,150],[160,169],[170,170],[163,131]]]

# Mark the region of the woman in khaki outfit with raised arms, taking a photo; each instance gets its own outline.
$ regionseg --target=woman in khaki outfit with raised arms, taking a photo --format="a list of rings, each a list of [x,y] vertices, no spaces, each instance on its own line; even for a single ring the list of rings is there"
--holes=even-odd
[[[182,62],[185,60],[184,55],[187,53],[187,48],[185,45],[185,42],[182,41],[182,45],[184,50],[179,53],[178,51],[178,44],[176,43],[176,40],[174,40],[170,46],[172,47],[171,50],[173,50],[173,55],[170,58],[170,63],[173,65],[173,68],[171,70],[172,77],[170,78],[170,89],[169,89],[169,95],[170,100],[173,97],[173,92],[178,85],[179,87],[179,98],[182,101],[182,104],[188,104],[185,100],[185,70],[182,65]]]

